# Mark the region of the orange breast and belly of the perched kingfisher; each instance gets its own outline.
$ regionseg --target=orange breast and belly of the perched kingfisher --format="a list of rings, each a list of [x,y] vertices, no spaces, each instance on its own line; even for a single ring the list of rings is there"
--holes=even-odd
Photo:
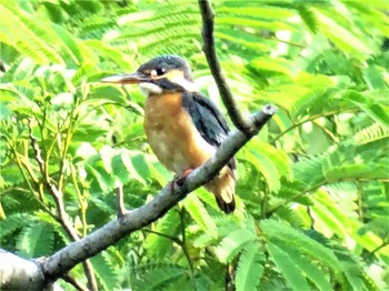
[[[148,98],[144,131],[159,161],[178,174],[201,165],[215,152],[182,108],[180,93],[151,94]]]

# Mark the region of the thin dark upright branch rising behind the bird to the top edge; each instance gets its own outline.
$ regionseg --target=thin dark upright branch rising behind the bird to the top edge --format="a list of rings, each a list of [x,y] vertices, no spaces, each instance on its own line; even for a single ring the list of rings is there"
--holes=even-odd
[[[216,49],[215,49],[215,39],[213,39],[213,18],[215,13],[209,0],[199,0],[199,7],[202,17],[202,51],[206,54],[207,62],[213,79],[218,86],[220,97],[227,108],[227,112],[230,116],[232,123],[240,131],[250,136],[253,131],[253,126],[250,124],[249,120],[246,120],[241,112],[238,109],[237,102],[235,101],[231,90],[226,81],[226,78],[222,73]]]

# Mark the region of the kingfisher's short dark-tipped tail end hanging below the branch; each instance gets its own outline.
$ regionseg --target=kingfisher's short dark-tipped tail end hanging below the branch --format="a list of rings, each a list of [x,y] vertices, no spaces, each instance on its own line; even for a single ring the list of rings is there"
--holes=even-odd
[[[215,194],[219,208],[227,214],[235,210],[235,184],[233,171],[229,167],[225,167],[216,178],[206,184],[206,188]]]

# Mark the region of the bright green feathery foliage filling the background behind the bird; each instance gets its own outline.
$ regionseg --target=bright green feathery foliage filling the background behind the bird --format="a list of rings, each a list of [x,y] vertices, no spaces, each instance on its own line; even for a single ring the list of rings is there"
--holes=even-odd
[[[213,6],[240,108],[248,114],[271,102],[279,111],[237,154],[235,214],[199,189],[92,258],[99,288],[388,288],[386,1]],[[83,237],[116,219],[118,185],[133,209],[172,178],[146,142],[144,98],[102,77],[180,54],[222,104],[196,1],[12,0],[0,10],[1,248],[38,258],[71,241],[47,181]],[[70,275],[86,283],[81,264]]]

